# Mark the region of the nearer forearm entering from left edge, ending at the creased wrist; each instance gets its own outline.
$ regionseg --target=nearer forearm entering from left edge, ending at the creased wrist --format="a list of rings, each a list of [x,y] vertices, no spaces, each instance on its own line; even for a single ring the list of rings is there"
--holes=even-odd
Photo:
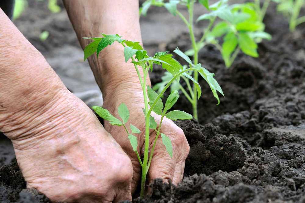
[[[66,89],[1,9],[0,25],[0,131],[6,132],[22,128],[30,112]]]

